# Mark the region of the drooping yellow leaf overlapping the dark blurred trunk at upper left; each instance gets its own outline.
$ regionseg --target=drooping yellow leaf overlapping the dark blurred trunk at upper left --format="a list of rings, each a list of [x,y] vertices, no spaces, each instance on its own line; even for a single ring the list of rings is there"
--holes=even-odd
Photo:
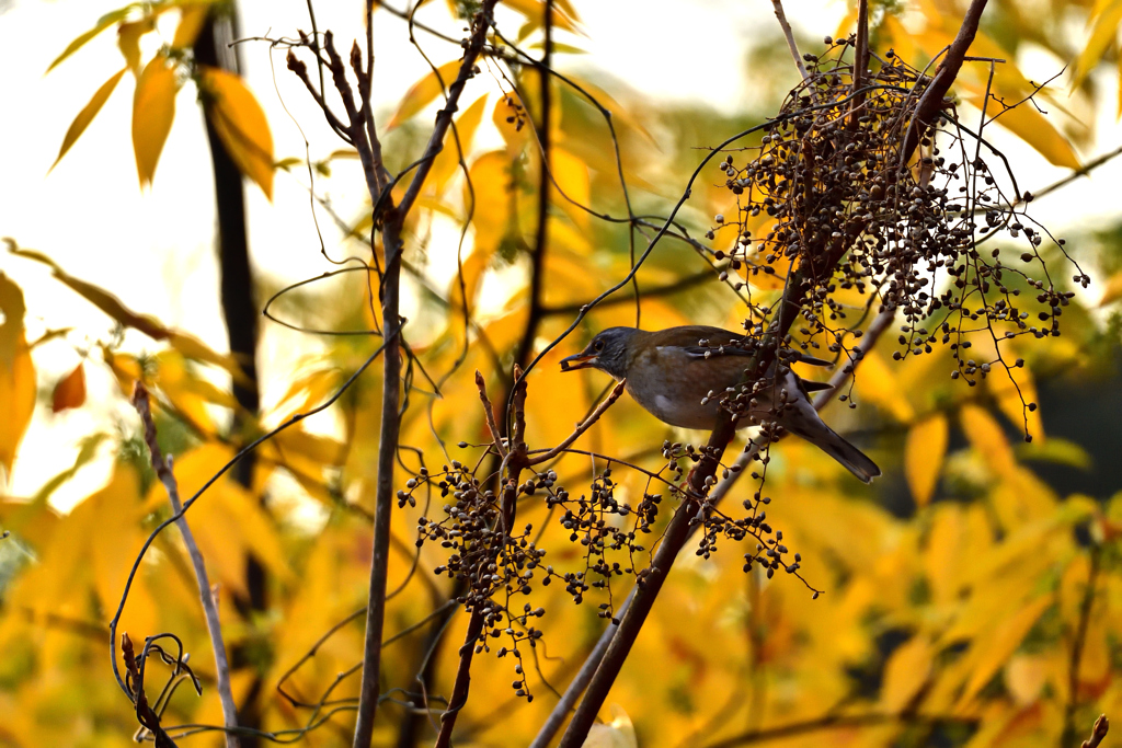
[[[238,169],[273,200],[273,133],[257,99],[238,75],[200,66],[206,117]]]

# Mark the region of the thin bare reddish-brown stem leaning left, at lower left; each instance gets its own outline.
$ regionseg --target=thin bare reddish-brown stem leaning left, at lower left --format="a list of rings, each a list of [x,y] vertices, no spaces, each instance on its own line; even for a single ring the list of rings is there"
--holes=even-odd
[[[151,417],[148,390],[139,381],[137,381],[136,389],[132,393],[132,407],[140,414],[140,421],[144,423],[144,441],[148,445],[148,453],[151,456],[151,468],[156,471],[159,482],[164,484],[164,490],[167,491],[167,498],[172,504],[172,511],[180,514],[183,504],[180,501],[180,486],[175,480],[175,474],[172,472],[172,459],[168,458],[165,460],[159,445],[156,443],[156,423]],[[210,632],[211,649],[214,652],[214,677],[218,682],[219,700],[222,702],[222,722],[227,730],[226,745],[227,748],[238,748],[238,738],[233,732],[238,729],[238,708],[233,703],[233,693],[230,690],[230,663],[226,656],[226,643],[222,640],[222,625],[218,617],[218,603],[214,599],[214,592],[211,590],[210,579],[206,576],[206,564],[203,563],[203,554],[199,551],[199,544],[195,543],[195,536],[191,533],[187,518],[180,517],[175,520],[175,524],[183,535],[183,545],[187,548],[187,555],[191,556],[191,565],[195,570],[199,597],[202,600],[203,615],[206,618],[206,630]],[[128,641],[127,636],[122,638],[122,641]],[[122,647],[125,646],[122,644]],[[131,653],[131,644],[128,644],[127,647],[129,653]],[[144,711],[144,709],[147,709],[147,705],[141,708],[139,703],[140,699],[142,699],[142,692],[137,696],[137,708]],[[156,720],[156,724],[159,724],[158,719]]]

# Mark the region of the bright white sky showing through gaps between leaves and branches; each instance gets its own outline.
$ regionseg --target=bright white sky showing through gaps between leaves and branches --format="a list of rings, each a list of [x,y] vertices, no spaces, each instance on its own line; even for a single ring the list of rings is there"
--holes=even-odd
[[[150,191],[141,191],[137,182],[129,137],[129,76],[58,167],[47,174],[74,116],[123,64],[113,30],[89,43],[49,75],[44,71],[71,39],[121,2],[0,0],[0,101],[7,102],[0,117],[0,236],[53,257],[72,275],[111,289],[131,308],[224,350],[212,250],[210,160],[193,86],[184,86],[177,100],[178,116]],[[335,29],[341,48],[349,48],[350,39],[360,34],[361,4],[358,0],[318,3],[320,28]],[[431,4],[438,6],[430,9],[436,11],[432,16],[442,18],[439,6],[443,3]],[[734,110],[748,95],[744,63],[748,47],[761,35],[778,36],[769,0],[576,0],[574,4],[589,36],[581,45],[590,54],[586,58],[565,56],[561,64],[595,64],[611,71],[654,102],[707,103]],[[811,38],[834,34],[846,10],[844,0],[789,0],[788,6],[797,30]],[[246,37],[293,35],[295,28],[307,28],[303,0],[242,0],[239,7]],[[502,16],[499,22],[503,27]],[[505,28],[513,31],[517,25],[512,19]],[[419,39],[438,64],[458,56],[445,43],[422,33]],[[388,13],[375,15],[375,98],[381,109],[390,110],[429,68],[410,47],[404,25]],[[283,52],[274,52],[273,61],[280,95],[312,141],[313,158],[341,147],[302,86],[284,68]],[[250,87],[266,109],[277,158],[302,157],[300,131],[274,91],[267,45],[243,46],[241,62]],[[1050,77],[1064,64],[1047,54],[1031,53],[1019,62],[1036,80]],[[1101,87],[1104,95],[1114,95],[1113,85]],[[1098,141],[1082,154],[1084,157],[1113,148],[1122,139],[1112,117],[1113,99],[1101,110]],[[1006,147],[1012,158],[1023,157],[1030,164],[1019,169],[1022,185],[1029,188],[1064,174],[1023,146],[1011,142]],[[251,250],[258,266],[267,266],[276,280],[296,280],[325,269],[310,220],[305,179],[304,175],[278,173],[272,204],[259,190],[247,186]],[[1083,181],[1063,196],[1041,201],[1036,213],[1060,232],[1101,223],[1118,215],[1116,190],[1102,185],[1120,181],[1122,166],[1104,168],[1094,182]],[[365,188],[358,179],[335,178],[328,188],[344,215],[353,213],[348,206],[357,209],[364,198]],[[329,249],[332,237],[325,232]],[[0,271],[24,288],[29,338],[45,327],[75,322],[89,324],[95,335],[108,330],[105,317],[65,292],[45,268],[0,255]],[[263,351],[266,369],[276,369],[283,340],[269,331]],[[40,387],[50,387],[77,361],[76,353],[61,345],[37,354]],[[70,467],[76,438],[95,424],[103,425],[109,412],[118,409],[108,397],[116,388],[108,373],[96,366],[88,367],[86,373],[90,400],[84,408],[57,417],[43,408],[37,412],[15,470],[12,493],[30,495]],[[84,480],[59,490],[57,504],[65,507],[84,496],[103,479],[107,469],[86,470]]]

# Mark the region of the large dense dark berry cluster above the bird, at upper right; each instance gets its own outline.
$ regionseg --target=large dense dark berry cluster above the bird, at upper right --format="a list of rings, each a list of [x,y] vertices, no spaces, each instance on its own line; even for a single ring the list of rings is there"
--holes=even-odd
[[[719,164],[736,218],[718,215],[708,237],[735,231],[736,238],[718,259],[742,273],[748,283],[739,285],[749,294],[755,286],[757,297],[761,287],[776,287],[761,276],[785,281],[779,303],[749,296],[746,330],[760,339],[784,307],[795,306],[783,343],[852,362],[861,347],[848,317],[879,303],[902,322],[893,358],[949,344],[955,378],[973,386],[999,364],[1012,376],[1001,343],[1058,335],[1074,296],[1049,274],[1046,257],[1072,261],[1075,283],[1089,279],[1064,240],[1028,215],[1032,195],[1019,191],[984,127],[975,132],[945,100],[917,138],[917,108],[932,79],[889,50],[871,55],[873,70],[855,85],[854,45],[853,37],[828,39],[821,56],[804,55],[807,77],[761,144],[745,149],[748,160],[737,164],[728,154]],[[997,117],[1004,107],[990,104]],[[867,302],[856,302],[854,292]],[[988,360],[966,352],[971,333],[993,341]]]

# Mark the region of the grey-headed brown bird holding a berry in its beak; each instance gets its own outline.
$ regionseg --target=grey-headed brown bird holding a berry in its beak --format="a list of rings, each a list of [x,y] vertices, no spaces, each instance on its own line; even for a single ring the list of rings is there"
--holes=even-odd
[[[561,360],[562,371],[598,369],[616,381],[626,380],[627,393],[655,418],[682,428],[712,430],[720,415],[721,396],[736,391],[744,378],[745,358],[755,353],[751,341],[720,327],[682,325],[655,332],[637,327],[608,327],[588,347]],[[829,366],[801,352],[789,351],[767,375],[751,385],[737,428],[773,422],[837,460],[865,483],[881,469],[861,450],[826,425],[809,394],[828,389],[825,382],[802,379],[788,361]]]

